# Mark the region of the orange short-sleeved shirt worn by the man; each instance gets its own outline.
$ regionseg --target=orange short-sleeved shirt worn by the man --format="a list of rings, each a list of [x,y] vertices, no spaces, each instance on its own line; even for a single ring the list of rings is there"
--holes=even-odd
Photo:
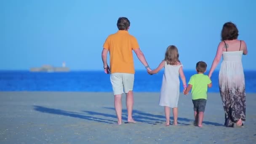
[[[128,31],[119,30],[109,35],[103,48],[109,50],[111,73],[135,73],[132,50],[139,48],[139,44]]]

